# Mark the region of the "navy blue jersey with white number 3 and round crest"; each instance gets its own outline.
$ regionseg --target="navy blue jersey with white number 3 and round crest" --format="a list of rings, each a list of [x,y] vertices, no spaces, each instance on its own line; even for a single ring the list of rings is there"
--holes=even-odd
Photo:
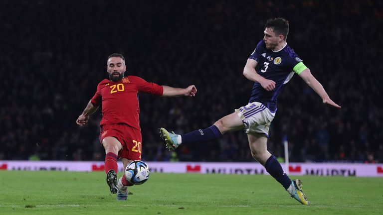
[[[270,111],[275,112],[277,110],[277,98],[282,91],[283,85],[290,81],[294,75],[293,68],[302,60],[289,45],[286,44],[280,51],[273,52],[266,48],[263,40],[257,44],[249,59],[258,62],[255,67],[258,75],[276,83],[274,90],[266,91],[258,82],[255,82],[249,103],[262,103]]]

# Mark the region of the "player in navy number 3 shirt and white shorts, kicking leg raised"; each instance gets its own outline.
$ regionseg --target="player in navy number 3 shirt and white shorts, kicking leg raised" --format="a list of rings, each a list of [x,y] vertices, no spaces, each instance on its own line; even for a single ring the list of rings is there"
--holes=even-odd
[[[303,205],[309,205],[310,202],[302,191],[301,180],[291,180],[283,172],[277,159],[267,151],[268,131],[277,111],[277,97],[283,86],[296,73],[322,98],[323,103],[336,108],[341,107],[330,99],[322,85],[287,45],[288,31],[289,22],[284,18],[269,19],[266,22],[263,40],[257,44],[243,69],[243,75],[255,82],[248,105],[235,109],[233,113],[222,117],[208,128],[183,135],[161,128],[160,135],[166,141],[167,147],[174,150],[181,143],[211,141],[226,132],[245,129],[252,157],[261,163],[292,197]]]

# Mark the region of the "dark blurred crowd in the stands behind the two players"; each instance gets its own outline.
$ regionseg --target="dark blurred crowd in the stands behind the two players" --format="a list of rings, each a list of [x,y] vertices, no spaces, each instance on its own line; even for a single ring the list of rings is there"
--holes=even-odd
[[[294,48],[336,103],[297,75],[284,87],[269,151],[292,162],[383,162],[383,1],[2,0],[0,160],[103,160],[101,111],[75,121],[121,53],[126,75],[195,98],[140,95],[146,161],[253,161],[244,131],[166,150],[158,128],[185,133],[248,103],[243,67],[268,18],[290,21]],[[124,109],[121,109],[124,111]]]

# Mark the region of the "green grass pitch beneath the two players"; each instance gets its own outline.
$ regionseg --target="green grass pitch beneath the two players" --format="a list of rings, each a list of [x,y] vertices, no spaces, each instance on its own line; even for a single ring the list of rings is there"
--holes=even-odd
[[[104,172],[0,171],[0,215],[383,214],[383,178],[298,178],[310,206],[264,175],[152,173],[116,201]]]

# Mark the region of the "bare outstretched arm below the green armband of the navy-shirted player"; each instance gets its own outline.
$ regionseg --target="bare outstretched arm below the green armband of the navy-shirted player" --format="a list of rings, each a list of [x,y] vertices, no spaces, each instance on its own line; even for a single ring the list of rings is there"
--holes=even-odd
[[[336,108],[341,108],[341,106],[330,99],[321,83],[319,83],[319,81],[311,74],[309,69],[303,70],[299,76],[322,98],[324,104],[329,104]]]

